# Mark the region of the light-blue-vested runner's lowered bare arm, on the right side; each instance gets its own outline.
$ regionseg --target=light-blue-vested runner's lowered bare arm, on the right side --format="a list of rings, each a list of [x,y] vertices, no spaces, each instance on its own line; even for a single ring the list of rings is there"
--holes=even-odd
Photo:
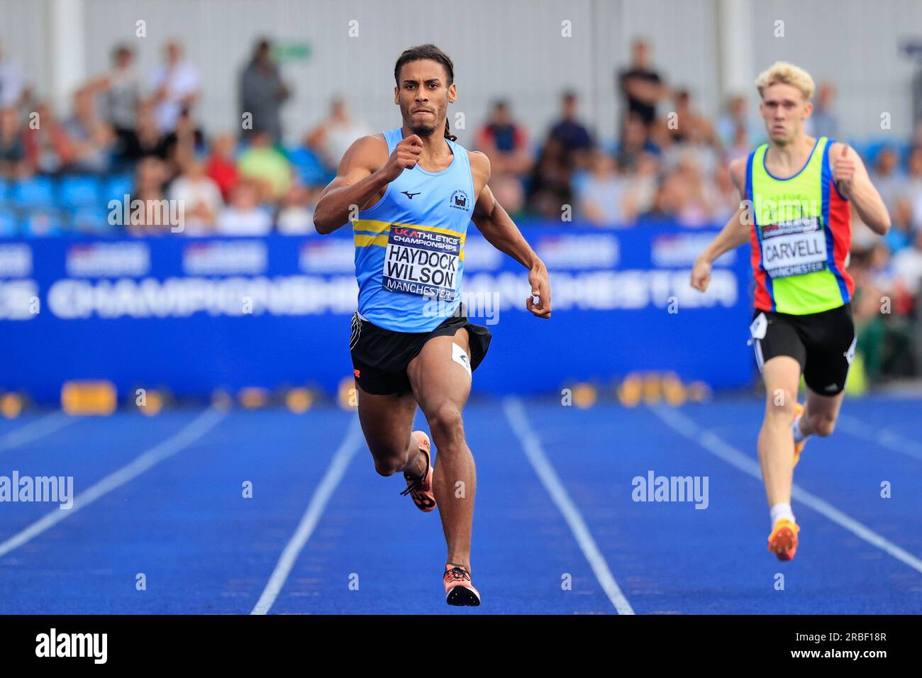
[[[479,152],[469,153],[471,172],[475,184],[482,182],[483,188],[474,203],[474,215],[471,220],[487,242],[500,252],[511,256],[528,269],[528,282],[531,284],[532,296],[526,300],[526,308],[542,318],[550,317],[550,279],[544,262],[538,258],[518,230],[515,222],[502,205],[493,196],[488,185],[490,182],[490,159]],[[538,297],[535,303],[533,297]]]

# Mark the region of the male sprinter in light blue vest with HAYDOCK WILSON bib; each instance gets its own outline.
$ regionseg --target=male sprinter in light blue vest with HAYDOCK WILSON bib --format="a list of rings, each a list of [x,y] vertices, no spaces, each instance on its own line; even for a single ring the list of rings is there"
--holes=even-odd
[[[375,469],[384,476],[403,471],[402,494],[420,510],[439,506],[448,543],[445,600],[479,605],[470,578],[477,474],[461,410],[491,334],[467,320],[460,299],[467,224],[474,221],[528,269],[526,308],[539,318],[550,318],[550,281],[487,185],[490,160],[449,132],[448,104],[457,96],[451,59],[431,44],[413,47],[400,54],[394,78],[403,125],[352,144],[313,223],[329,233],[352,222],[359,309],[349,350]],[[412,430],[418,404],[439,451],[437,470],[429,437]]]

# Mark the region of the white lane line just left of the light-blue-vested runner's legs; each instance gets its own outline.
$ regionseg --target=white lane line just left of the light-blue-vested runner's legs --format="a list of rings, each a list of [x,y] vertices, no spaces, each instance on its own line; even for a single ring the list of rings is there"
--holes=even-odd
[[[333,458],[330,459],[330,465],[326,469],[323,480],[317,485],[317,489],[313,491],[311,502],[308,504],[307,510],[304,511],[304,515],[301,517],[298,529],[291,535],[291,539],[285,545],[284,551],[282,551],[282,554],[278,557],[276,568],[273,570],[272,576],[269,577],[269,580],[266,582],[266,589],[263,589],[263,594],[259,597],[259,600],[256,601],[256,605],[251,614],[266,614],[272,608],[273,603],[275,603],[278,598],[278,593],[281,591],[282,587],[285,586],[285,581],[288,579],[291,568],[298,559],[298,554],[301,553],[304,544],[311,538],[313,529],[317,527],[317,522],[320,520],[320,517],[323,516],[326,503],[329,501],[330,496],[336,491],[337,485],[346,474],[346,470],[349,468],[349,462],[355,456],[355,453],[359,451],[361,440],[359,417],[355,416],[352,421],[349,422],[349,431],[346,437],[343,439],[343,442],[340,443]]]

